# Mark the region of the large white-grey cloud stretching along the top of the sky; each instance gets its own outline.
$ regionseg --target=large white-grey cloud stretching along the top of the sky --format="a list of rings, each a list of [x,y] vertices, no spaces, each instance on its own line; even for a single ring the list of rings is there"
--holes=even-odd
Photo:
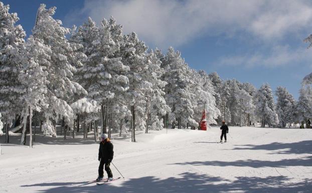
[[[312,27],[312,7],[305,0],[86,0],[84,8],[70,13],[65,23],[81,24],[86,16],[97,23],[113,16],[125,33],[134,31],[163,48],[237,31],[269,42]]]

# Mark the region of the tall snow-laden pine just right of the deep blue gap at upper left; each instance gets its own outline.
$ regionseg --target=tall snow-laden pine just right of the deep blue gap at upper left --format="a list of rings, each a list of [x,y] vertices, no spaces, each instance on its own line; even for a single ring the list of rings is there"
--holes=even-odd
[[[49,108],[43,110],[46,117],[43,124],[44,133],[52,136],[56,136],[56,130],[51,120],[57,121],[61,116],[65,123],[72,127],[74,114],[68,101],[75,94],[87,95],[86,90],[72,80],[76,67],[82,66],[82,61],[86,58],[83,53],[78,52],[82,45],[66,39],[70,29],[62,27],[60,20],[53,19],[55,10],[55,7],[47,10],[46,5],[41,4],[33,29],[34,38],[42,39],[52,50],[50,65],[46,70],[49,81],[46,101]]]

